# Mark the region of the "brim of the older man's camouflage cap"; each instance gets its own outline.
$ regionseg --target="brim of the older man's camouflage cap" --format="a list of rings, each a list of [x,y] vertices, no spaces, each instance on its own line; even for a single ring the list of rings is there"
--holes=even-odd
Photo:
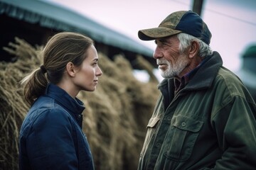
[[[171,28],[158,27],[149,28],[146,30],[139,30],[138,36],[141,40],[155,40],[156,38],[164,38],[171,35],[181,33],[181,30],[174,30]]]

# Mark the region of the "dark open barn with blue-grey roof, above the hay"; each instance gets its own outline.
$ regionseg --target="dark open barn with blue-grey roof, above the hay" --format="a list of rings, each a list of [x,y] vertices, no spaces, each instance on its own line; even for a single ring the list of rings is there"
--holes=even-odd
[[[156,67],[151,57],[153,50],[149,47],[80,13],[47,1],[0,0],[0,25],[1,47],[14,41],[14,37],[22,38],[31,45],[44,45],[55,33],[73,31],[95,40],[97,50],[110,58],[122,53],[132,62],[136,55],[142,55]],[[0,50],[0,60],[15,61],[4,50]]]

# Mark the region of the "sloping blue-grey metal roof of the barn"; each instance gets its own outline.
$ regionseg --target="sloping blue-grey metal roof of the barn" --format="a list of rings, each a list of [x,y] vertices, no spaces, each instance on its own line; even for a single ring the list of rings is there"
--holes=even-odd
[[[153,50],[63,6],[36,0],[0,0],[0,14],[46,28],[85,33],[96,42],[151,57]]]

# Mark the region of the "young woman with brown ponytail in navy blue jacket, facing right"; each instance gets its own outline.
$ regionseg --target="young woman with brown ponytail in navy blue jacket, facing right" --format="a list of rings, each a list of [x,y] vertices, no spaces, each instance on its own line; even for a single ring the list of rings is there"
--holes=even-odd
[[[20,169],[94,169],[82,132],[79,91],[95,91],[102,71],[94,42],[78,33],[58,33],[43,50],[43,64],[25,77],[31,104],[19,138]]]

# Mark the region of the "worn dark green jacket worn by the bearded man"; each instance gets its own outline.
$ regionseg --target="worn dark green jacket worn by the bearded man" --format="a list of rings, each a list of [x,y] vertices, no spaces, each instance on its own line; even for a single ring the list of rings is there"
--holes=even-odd
[[[256,169],[255,102],[222,64],[214,52],[176,96],[174,79],[159,84],[139,170]]]

